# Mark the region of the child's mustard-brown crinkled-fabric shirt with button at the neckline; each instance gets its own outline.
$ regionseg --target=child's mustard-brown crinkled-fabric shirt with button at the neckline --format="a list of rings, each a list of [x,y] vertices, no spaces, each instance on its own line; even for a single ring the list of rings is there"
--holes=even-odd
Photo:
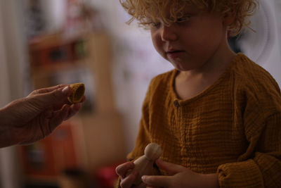
[[[218,173],[220,187],[281,187],[281,94],[273,77],[237,54],[214,84],[181,100],[176,74],[152,79],[128,159],[155,142],[162,160]]]

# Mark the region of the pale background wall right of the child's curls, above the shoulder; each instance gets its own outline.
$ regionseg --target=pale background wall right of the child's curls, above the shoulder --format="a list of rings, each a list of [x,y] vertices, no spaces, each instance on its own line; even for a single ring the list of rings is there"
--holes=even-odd
[[[281,84],[280,63],[280,1],[260,1],[259,11],[251,18],[239,40],[244,54],[266,68]]]

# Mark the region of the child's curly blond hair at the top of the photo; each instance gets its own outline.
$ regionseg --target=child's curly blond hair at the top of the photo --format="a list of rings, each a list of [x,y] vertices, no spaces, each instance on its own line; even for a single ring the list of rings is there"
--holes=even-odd
[[[195,5],[203,11],[235,13],[229,25],[230,34],[237,35],[242,27],[249,25],[247,18],[254,13],[258,0],[119,0],[124,9],[132,16],[128,21],[138,20],[139,25],[147,26],[152,21],[163,20],[169,24],[176,22],[184,14],[185,6]],[[169,17],[166,13],[169,13]]]

